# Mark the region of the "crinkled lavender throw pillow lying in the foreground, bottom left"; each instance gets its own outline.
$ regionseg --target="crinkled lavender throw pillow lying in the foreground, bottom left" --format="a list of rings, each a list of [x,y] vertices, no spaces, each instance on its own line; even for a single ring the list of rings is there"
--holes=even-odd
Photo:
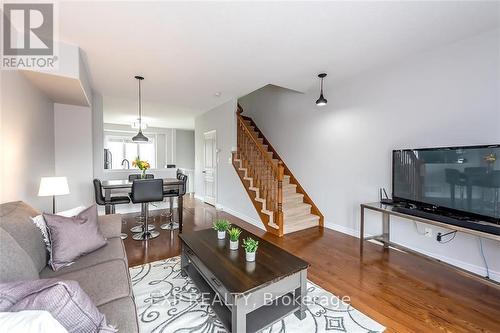
[[[69,333],[117,332],[76,281],[0,283],[0,311],[48,311]]]

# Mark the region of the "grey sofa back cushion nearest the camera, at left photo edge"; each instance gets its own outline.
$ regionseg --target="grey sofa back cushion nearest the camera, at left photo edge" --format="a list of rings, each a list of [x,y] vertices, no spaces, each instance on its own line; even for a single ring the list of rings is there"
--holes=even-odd
[[[0,228],[0,282],[38,279],[35,264],[14,238]]]

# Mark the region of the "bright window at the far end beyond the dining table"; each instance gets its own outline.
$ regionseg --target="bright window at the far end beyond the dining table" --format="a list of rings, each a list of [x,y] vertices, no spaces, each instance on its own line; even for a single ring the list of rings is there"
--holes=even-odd
[[[134,135],[135,133],[104,133],[104,148],[109,149],[113,158],[112,169],[123,169],[122,161],[124,159],[129,161],[130,169],[137,169],[132,166],[132,161],[137,156],[141,160],[148,161],[152,169],[156,168],[156,137],[148,135],[148,142],[136,143],[132,141]]]

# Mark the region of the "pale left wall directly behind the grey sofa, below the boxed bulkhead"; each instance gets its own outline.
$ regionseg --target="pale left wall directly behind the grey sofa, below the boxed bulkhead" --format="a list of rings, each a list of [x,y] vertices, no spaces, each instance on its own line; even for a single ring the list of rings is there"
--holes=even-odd
[[[37,194],[40,177],[54,176],[53,103],[19,71],[1,71],[1,83],[0,202],[51,211]]]

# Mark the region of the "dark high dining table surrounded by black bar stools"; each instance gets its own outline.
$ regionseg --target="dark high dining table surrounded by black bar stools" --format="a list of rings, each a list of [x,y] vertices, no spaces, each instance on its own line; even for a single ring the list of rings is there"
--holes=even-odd
[[[110,200],[113,191],[123,192],[124,190],[132,190],[132,181],[128,179],[114,179],[114,180],[103,180],[101,182],[102,188],[104,190],[104,197],[106,202]],[[186,193],[184,182],[177,178],[163,178],[163,191],[175,190],[178,193]],[[183,207],[183,196],[179,195],[177,200],[177,213],[179,218],[179,231],[182,232],[182,207]],[[105,206],[105,213],[111,214],[111,205]]]

